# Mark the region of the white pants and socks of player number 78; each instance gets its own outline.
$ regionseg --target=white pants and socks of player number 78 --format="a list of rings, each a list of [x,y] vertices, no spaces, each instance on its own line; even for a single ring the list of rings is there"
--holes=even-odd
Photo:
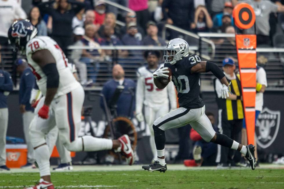
[[[100,151],[112,149],[112,140],[83,136],[78,138],[81,128],[81,110],[84,102],[82,86],[70,93],[52,100],[50,118],[47,120],[33,119],[30,136],[35,148],[36,161],[39,164],[40,175],[50,175],[50,150],[45,145],[45,135],[55,126],[59,129],[59,140],[68,151]],[[37,106],[41,108],[41,106]]]

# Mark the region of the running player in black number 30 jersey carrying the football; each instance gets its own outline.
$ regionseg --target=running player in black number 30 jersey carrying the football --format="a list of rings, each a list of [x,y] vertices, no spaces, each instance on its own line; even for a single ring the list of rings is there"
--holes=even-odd
[[[190,124],[206,142],[214,142],[228,148],[240,151],[250,162],[252,170],[255,168],[254,146],[252,144],[243,146],[230,139],[226,135],[216,133],[212,128],[210,120],[205,115],[205,105],[199,97],[200,73],[211,71],[223,84],[221,89],[222,98],[229,97],[229,83],[225,74],[219,67],[209,61],[201,61],[199,56],[189,54],[188,43],[175,38],[168,42],[164,49],[164,67],[154,72],[154,83],[159,89],[163,84],[158,78],[168,77],[168,68],[172,71],[172,82],[176,87],[179,98],[179,108],[158,118],[154,124],[154,137],[157,148],[158,160],[150,165],[142,166],[148,171],[165,172],[165,131]]]

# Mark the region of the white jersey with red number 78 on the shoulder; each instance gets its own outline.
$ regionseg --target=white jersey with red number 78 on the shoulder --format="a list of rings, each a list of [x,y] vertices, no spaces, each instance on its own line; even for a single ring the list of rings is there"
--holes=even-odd
[[[34,62],[34,60],[32,60],[32,53],[43,49],[49,50],[53,55],[59,73],[59,87],[54,98],[65,95],[80,86],[80,83],[74,78],[72,72],[70,71],[68,67],[68,59],[59,45],[48,36],[36,36],[27,43],[26,56],[28,59],[28,64],[37,79],[37,85],[39,86],[39,90],[42,92],[42,94],[46,96],[47,77],[43,73],[41,67]]]

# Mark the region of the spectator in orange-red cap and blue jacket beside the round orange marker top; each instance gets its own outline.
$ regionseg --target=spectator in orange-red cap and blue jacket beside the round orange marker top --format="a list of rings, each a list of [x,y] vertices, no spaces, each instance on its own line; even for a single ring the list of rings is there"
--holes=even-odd
[[[231,23],[230,25],[234,26],[234,20],[233,20],[233,16],[232,16],[232,13],[233,13],[233,5],[231,2],[225,2],[224,4],[224,9],[223,9],[223,12],[219,13],[219,14],[216,14],[213,18],[213,27],[214,28],[217,28],[217,27],[221,27],[223,25],[223,16],[226,15],[226,16],[230,16],[230,20],[231,20]]]

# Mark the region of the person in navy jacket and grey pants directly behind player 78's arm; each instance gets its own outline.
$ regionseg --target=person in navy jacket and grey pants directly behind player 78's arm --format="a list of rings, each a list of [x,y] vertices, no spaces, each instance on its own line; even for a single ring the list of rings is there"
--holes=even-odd
[[[29,135],[30,122],[34,118],[34,109],[30,104],[30,95],[32,88],[34,87],[34,75],[32,70],[28,67],[28,63],[25,59],[16,60],[17,73],[21,75],[20,89],[19,89],[19,104],[20,112],[23,117],[23,131],[25,135],[26,144],[28,146],[28,162],[23,168],[32,168],[34,166],[34,149],[32,147]]]

